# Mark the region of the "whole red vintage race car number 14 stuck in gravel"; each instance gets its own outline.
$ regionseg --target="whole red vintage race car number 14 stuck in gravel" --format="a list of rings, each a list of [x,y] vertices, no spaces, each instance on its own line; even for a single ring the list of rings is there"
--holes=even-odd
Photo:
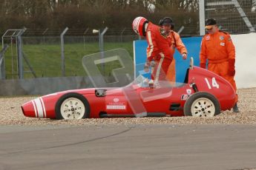
[[[76,89],[56,92],[22,105],[32,118],[83,119],[195,116],[213,117],[232,109],[236,94],[219,75],[191,65],[183,83],[159,81],[148,85],[140,75],[119,88]]]

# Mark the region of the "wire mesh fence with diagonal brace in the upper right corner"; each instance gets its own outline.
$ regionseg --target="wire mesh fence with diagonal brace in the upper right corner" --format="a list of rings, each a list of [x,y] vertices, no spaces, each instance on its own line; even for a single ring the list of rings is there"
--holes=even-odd
[[[255,32],[256,0],[206,0],[206,18],[232,34]]]

